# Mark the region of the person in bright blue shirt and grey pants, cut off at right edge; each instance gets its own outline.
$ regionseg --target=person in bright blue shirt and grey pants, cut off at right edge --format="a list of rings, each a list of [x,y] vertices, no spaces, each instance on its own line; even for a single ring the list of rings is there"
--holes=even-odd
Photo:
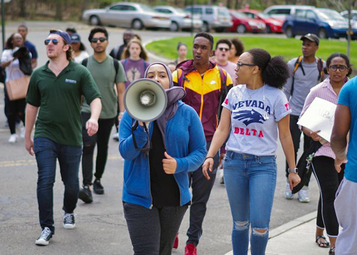
[[[342,171],[342,164],[348,160],[345,166],[344,179],[336,192],[334,202],[337,220],[342,227],[336,240],[335,254],[337,255],[354,255],[357,251],[356,86],[357,80],[355,77],[342,87],[331,134],[331,148],[336,155],[335,168],[338,173]],[[347,143],[348,139],[349,144]]]

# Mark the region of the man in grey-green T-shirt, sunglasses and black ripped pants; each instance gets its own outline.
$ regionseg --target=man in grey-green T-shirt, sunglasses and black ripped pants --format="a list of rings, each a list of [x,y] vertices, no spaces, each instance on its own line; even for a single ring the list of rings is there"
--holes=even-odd
[[[88,38],[93,48],[94,54],[83,60],[91,73],[96,85],[99,88],[102,96],[102,111],[98,120],[98,132],[89,136],[86,130],[86,123],[91,117],[91,107],[83,101],[82,104],[82,136],[83,136],[83,155],[82,155],[82,173],[83,173],[83,189],[79,191],[79,199],[85,203],[92,203],[93,196],[91,186],[93,184],[94,193],[104,194],[104,188],[101,183],[101,178],[104,173],[105,165],[108,157],[109,137],[117,118],[117,108],[119,97],[115,92],[124,89],[126,77],[124,68],[117,59],[114,59],[106,53],[109,45],[108,31],[102,27],[95,27],[91,30]],[[121,95],[122,93],[118,93]],[[120,105],[124,111],[124,105]],[[94,148],[97,145],[97,160],[96,172],[93,178],[93,154]]]

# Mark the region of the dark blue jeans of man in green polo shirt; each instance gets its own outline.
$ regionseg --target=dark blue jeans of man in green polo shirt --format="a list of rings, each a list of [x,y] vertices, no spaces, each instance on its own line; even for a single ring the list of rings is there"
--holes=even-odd
[[[38,167],[37,201],[42,229],[49,227],[55,231],[53,218],[53,186],[56,178],[56,161],[60,163],[60,173],[64,183],[63,210],[72,213],[79,193],[79,163],[82,147],[68,146],[38,137],[34,139],[34,151]]]

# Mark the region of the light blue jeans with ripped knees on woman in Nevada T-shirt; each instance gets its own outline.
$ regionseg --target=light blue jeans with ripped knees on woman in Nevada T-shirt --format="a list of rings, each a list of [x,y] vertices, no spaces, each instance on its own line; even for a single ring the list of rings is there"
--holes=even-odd
[[[233,254],[247,255],[250,224],[251,254],[264,255],[277,178],[275,156],[227,151],[223,166],[233,217]]]

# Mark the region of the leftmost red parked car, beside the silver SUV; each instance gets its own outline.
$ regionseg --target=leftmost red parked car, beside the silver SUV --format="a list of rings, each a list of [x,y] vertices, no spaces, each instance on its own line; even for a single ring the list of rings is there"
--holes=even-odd
[[[245,32],[265,32],[265,22],[249,18],[245,13],[230,10],[230,14],[233,21],[233,26],[228,30],[237,32],[238,34],[244,34]]]

